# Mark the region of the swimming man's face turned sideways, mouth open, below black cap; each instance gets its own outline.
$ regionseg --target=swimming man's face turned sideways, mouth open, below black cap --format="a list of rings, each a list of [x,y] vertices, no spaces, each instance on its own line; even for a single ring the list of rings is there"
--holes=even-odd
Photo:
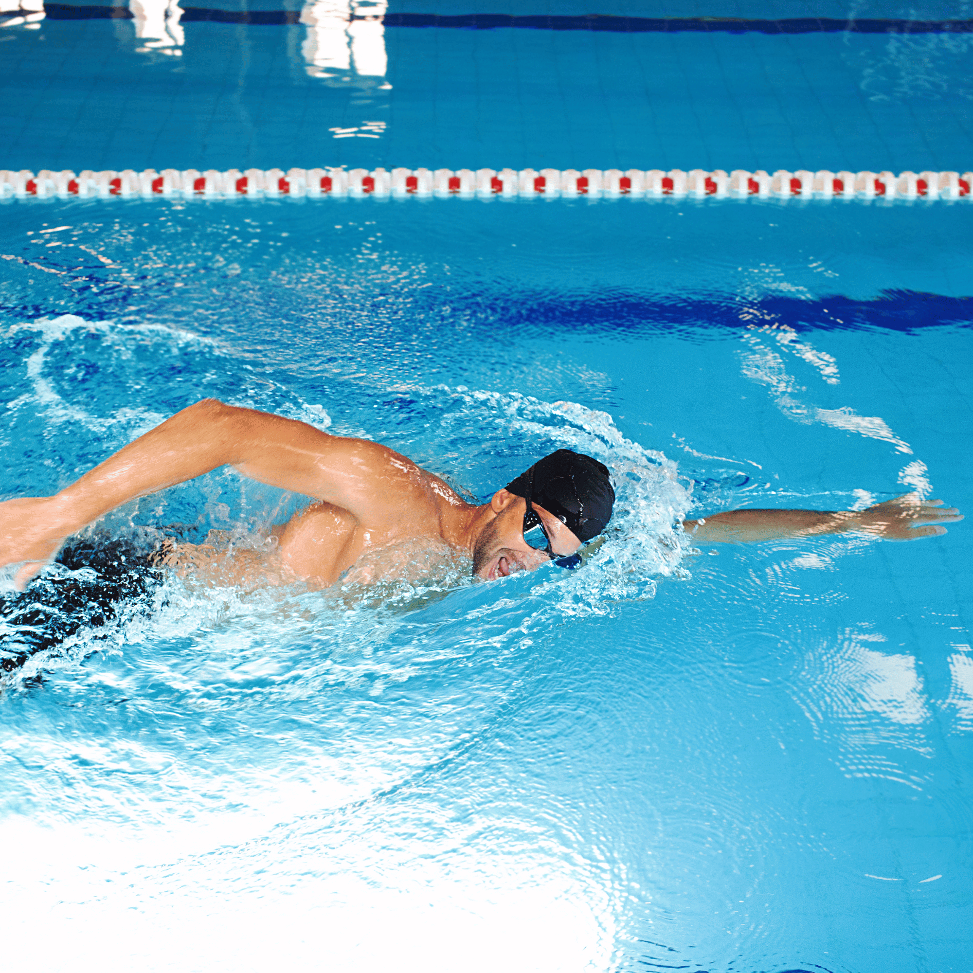
[[[523,539],[523,515],[527,509],[523,496],[507,489],[497,490],[490,506],[496,517],[486,524],[473,549],[473,573],[478,578],[492,581],[517,571],[533,571],[550,560],[547,553],[535,550]],[[581,547],[581,541],[554,514],[536,503],[533,509],[557,557],[566,558]]]

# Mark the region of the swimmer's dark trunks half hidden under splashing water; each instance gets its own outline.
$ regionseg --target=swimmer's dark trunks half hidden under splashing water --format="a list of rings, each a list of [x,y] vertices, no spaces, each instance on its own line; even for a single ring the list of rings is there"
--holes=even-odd
[[[162,583],[152,558],[130,540],[68,544],[25,592],[0,595],[0,670],[11,672],[83,629],[97,637],[120,615],[147,612]]]

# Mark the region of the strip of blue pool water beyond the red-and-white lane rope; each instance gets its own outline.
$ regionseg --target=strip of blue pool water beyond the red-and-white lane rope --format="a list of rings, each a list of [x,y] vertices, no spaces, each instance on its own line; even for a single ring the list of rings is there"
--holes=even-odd
[[[0,29],[0,164],[962,172],[973,159],[968,2],[248,6],[58,4]],[[227,22],[203,19],[220,11]],[[579,25],[592,14],[597,29]],[[800,32],[772,32],[795,20]]]

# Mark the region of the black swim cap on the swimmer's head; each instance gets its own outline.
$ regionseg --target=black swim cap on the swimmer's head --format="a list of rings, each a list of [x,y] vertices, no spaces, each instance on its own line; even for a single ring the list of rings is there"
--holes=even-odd
[[[507,489],[549,510],[581,541],[590,541],[604,530],[615,503],[608,467],[571,450],[538,459]]]

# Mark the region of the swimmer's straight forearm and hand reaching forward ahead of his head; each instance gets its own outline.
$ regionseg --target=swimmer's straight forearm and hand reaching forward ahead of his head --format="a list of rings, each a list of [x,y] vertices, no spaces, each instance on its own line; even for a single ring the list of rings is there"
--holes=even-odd
[[[742,544],[781,537],[813,537],[846,531],[911,541],[945,534],[944,523],[961,521],[955,507],[942,500],[920,500],[906,493],[861,511],[728,510],[698,521],[685,521],[686,533],[700,544]]]

